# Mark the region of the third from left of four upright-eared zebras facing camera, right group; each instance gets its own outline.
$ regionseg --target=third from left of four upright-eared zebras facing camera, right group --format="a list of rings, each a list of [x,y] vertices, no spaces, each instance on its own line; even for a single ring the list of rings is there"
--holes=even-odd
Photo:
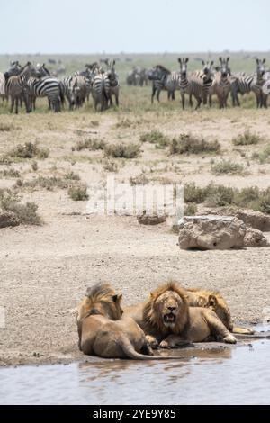
[[[212,94],[216,94],[220,103],[220,109],[227,107],[228,97],[231,91],[230,75],[229,58],[220,58],[220,70],[216,73],[210,89],[210,105]]]

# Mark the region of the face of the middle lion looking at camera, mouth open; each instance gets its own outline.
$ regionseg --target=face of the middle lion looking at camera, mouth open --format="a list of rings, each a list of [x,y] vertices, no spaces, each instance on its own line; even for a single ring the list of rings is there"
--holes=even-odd
[[[166,291],[155,301],[155,311],[162,317],[166,328],[174,329],[177,317],[181,315],[185,304],[183,299],[174,291]]]

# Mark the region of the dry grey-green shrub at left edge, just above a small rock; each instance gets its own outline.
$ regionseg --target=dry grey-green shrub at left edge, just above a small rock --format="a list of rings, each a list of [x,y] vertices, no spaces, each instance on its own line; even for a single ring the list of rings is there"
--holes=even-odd
[[[20,224],[40,225],[42,220],[38,215],[38,205],[35,202],[23,204],[21,198],[11,190],[0,190],[0,208],[14,212]]]

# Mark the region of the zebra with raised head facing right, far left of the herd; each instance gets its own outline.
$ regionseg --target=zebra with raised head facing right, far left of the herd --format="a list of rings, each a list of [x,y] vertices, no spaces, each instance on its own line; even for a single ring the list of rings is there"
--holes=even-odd
[[[22,72],[18,76],[9,76],[6,82],[6,94],[11,96],[11,109],[10,112],[14,112],[14,105],[15,105],[15,113],[18,114],[18,107],[19,101],[23,98],[26,111],[29,112],[27,106],[27,100],[25,98],[25,87],[27,84],[28,79],[31,76],[36,76],[36,70],[31,65],[31,62],[28,62],[24,67]]]

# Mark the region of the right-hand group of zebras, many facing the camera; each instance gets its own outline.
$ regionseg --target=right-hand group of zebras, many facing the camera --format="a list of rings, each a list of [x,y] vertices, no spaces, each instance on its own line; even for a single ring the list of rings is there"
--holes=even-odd
[[[253,92],[256,95],[257,107],[267,108],[268,94],[270,94],[270,71],[266,69],[266,59],[256,59],[257,68],[251,75],[244,72],[233,74],[229,67],[229,58],[220,58],[220,65],[214,67],[214,62],[205,63],[202,69],[188,75],[189,58],[178,58],[180,70],[171,72],[166,67],[157,65],[148,70],[148,78],[152,81],[151,102],[155,97],[159,102],[162,90],[167,91],[168,99],[175,100],[175,91],[180,91],[182,106],[185,108],[185,94],[189,96],[190,106],[193,107],[193,97],[198,109],[201,104],[212,105],[212,96],[216,95],[220,109],[228,106],[229,94],[233,106],[240,106],[239,94]]]

